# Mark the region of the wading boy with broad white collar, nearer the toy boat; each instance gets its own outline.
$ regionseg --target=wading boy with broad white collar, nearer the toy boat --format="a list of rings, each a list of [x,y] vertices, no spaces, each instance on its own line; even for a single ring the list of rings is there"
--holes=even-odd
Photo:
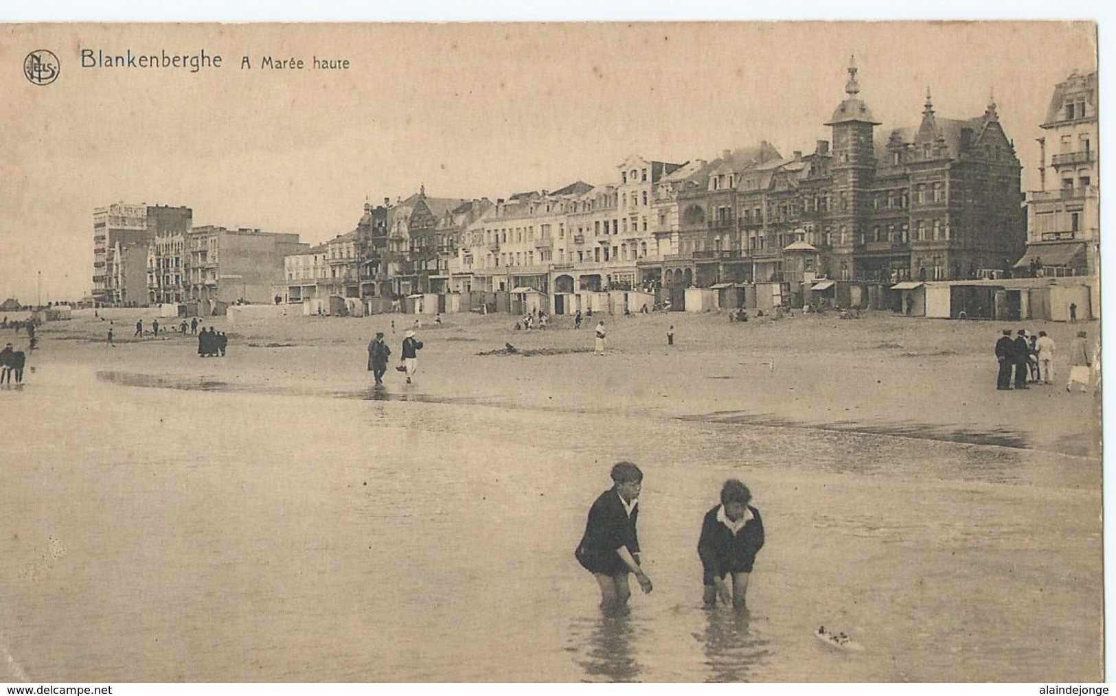
[[[763,547],[763,521],[760,511],[749,505],[752,493],[740,481],[730,478],[721,487],[721,504],[705,513],[698,541],[698,555],[704,571],[702,599],[706,607],[721,601],[743,609],[748,577],[756,553]],[[732,590],[729,590],[732,576]]]

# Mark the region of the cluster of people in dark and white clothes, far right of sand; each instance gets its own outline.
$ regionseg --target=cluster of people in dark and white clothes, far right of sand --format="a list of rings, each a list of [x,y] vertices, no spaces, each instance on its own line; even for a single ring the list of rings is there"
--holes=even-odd
[[[1002,336],[995,341],[995,359],[999,369],[995,375],[995,388],[1029,389],[1031,384],[1054,384],[1054,355],[1057,346],[1046,331],[1038,335],[1029,334],[1027,329],[1016,331],[1011,338],[1011,329],[1003,329]],[[1093,354],[1088,345],[1088,334],[1077,332],[1069,349],[1069,379],[1066,392],[1072,392],[1074,385],[1080,385],[1086,392],[1090,381]]]

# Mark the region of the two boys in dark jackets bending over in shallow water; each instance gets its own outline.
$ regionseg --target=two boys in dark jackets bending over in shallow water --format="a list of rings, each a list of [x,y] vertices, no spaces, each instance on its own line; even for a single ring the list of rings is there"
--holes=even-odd
[[[610,471],[613,487],[589,508],[585,533],[574,557],[593,573],[600,589],[600,608],[622,609],[632,596],[629,576],[644,593],[652,590],[643,569],[636,520],[643,472],[632,462],[617,462]],[[721,486],[721,502],[702,519],[698,555],[702,563],[702,601],[747,608],[745,594],[756,554],[763,547],[763,521],[752,504],[752,493],[737,478]]]

